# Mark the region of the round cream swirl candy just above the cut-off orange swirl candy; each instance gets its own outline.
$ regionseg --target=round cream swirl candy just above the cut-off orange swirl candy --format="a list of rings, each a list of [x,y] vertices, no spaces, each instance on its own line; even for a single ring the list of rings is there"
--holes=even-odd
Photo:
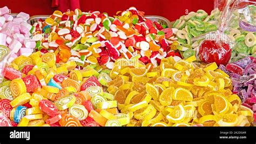
[[[69,112],[78,120],[85,120],[88,116],[88,111],[83,105],[77,105],[77,104],[72,105],[69,108]]]

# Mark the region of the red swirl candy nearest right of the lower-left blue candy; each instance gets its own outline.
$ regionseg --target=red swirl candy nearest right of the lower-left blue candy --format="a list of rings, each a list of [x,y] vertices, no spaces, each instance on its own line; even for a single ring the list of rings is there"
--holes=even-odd
[[[39,102],[40,109],[49,116],[58,114],[58,108],[50,100],[41,100]]]

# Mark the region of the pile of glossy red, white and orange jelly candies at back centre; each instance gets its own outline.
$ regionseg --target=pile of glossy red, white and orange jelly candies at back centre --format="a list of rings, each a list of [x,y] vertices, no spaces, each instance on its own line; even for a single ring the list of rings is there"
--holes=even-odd
[[[113,68],[118,58],[140,59],[154,67],[168,56],[179,56],[170,45],[177,40],[171,28],[144,17],[131,7],[110,17],[99,11],[55,11],[45,21],[33,24],[37,50],[54,51],[57,63],[73,60]]]

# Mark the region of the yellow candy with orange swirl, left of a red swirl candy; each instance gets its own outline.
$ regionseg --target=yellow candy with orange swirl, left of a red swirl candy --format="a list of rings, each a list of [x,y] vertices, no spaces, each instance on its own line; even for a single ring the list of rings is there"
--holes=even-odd
[[[21,78],[12,80],[10,83],[10,91],[15,98],[26,93],[26,85],[24,81]]]

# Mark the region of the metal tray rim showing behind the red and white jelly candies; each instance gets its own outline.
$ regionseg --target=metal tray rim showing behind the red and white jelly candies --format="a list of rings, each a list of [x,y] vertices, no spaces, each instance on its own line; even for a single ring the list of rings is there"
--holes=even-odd
[[[36,16],[32,16],[32,17],[30,17],[30,23],[33,25],[39,19],[46,19],[48,17],[50,17],[50,16],[49,15],[36,15]],[[168,20],[165,17],[154,16],[154,15],[147,15],[145,17],[150,19],[150,20],[152,20],[152,21],[159,22],[160,24],[164,24],[164,25],[168,26],[168,28],[172,28],[172,23],[170,22],[170,20]]]

